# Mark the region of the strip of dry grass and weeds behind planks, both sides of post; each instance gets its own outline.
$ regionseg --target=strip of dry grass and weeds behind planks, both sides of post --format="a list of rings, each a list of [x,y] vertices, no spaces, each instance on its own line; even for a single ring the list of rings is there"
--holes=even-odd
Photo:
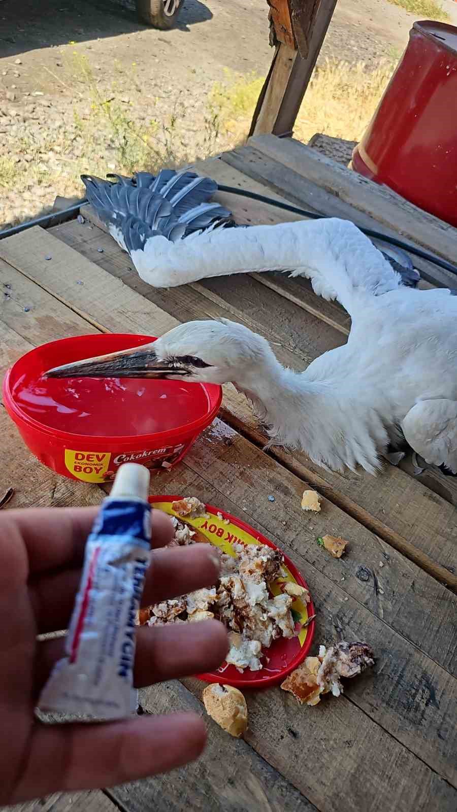
[[[148,117],[134,93],[132,102],[124,99],[115,84],[115,71],[111,85],[104,86],[94,79],[85,57],[76,55],[71,69],[74,76],[83,77],[84,84],[78,86],[85,88],[83,97],[74,97],[72,113],[62,116],[57,129],[24,128],[28,135],[16,137],[15,154],[11,142],[4,149],[0,146],[0,222],[32,218],[39,205],[52,205],[56,195],[81,196],[84,172],[102,177],[109,171],[155,172],[233,148],[246,140],[263,84],[261,76],[227,72],[224,82],[213,85],[202,123],[196,124],[192,119],[189,123],[179,96],[165,112],[150,106]],[[295,137],[307,142],[315,132],[324,132],[359,140],[393,71],[393,60],[374,71],[344,62],[316,68]]]

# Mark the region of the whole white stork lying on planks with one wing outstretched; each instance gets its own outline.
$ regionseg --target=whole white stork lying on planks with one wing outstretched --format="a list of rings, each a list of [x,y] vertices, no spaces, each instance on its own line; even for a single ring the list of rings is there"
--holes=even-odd
[[[347,343],[297,373],[282,367],[268,342],[244,326],[189,322],[146,348],[52,374],[233,382],[271,426],[271,443],[300,448],[324,467],[361,465],[375,473],[388,445],[406,438],[428,463],[457,472],[457,296],[403,287],[350,222],[227,229],[228,212],[202,212],[206,204],[198,205],[198,217],[209,214],[211,231],[185,235],[181,229],[174,242],[157,231],[145,236],[138,218],[124,228],[122,212],[111,213],[111,233],[124,241],[142,279],[165,287],[221,274],[288,270],[342,304],[352,320]],[[180,222],[172,221],[168,209],[162,215],[168,231],[179,234]],[[185,217],[191,222],[189,213]]]

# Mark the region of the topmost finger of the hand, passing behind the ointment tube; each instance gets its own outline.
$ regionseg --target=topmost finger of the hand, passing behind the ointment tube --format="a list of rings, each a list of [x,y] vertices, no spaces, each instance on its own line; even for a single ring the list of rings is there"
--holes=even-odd
[[[29,508],[0,513],[0,538],[20,533],[28,552],[30,575],[61,567],[76,567],[100,508]],[[172,520],[152,512],[152,547],[172,541]]]

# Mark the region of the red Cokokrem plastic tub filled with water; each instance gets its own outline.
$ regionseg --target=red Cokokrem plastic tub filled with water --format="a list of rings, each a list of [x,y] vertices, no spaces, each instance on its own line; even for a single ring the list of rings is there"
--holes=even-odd
[[[69,479],[111,482],[124,462],[134,461],[159,473],[182,460],[219,411],[219,386],[134,378],[119,383],[117,379],[41,378],[54,366],[150,341],[155,338],[79,335],[43,344],[8,369],[3,381],[5,407],[41,463]],[[142,430],[153,424],[154,430]],[[76,425],[77,430],[68,430],[68,425]]]

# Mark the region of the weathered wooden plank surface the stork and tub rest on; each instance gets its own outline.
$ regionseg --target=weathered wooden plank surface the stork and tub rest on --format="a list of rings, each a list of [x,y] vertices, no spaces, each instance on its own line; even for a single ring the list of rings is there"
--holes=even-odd
[[[197,168],[221,184],[402,234],[450,261],[457,256],[454,229],[292,140],[261,136]],[[219,197],[237,222],[295,218],[270,205]],[[452,279],[424,261],[420,268],[427,284]],[[87,220],[48,231],[34,227],[0,241],[0,282],[11,286],[3,287],[9,296],[0,302],[3,371],[32,347],[68,335],[161,335],[179,322],[220,316],[264,335],[282,362],[304,369],[344,343],[350,326],[346,313],[314,296],[305,280],[276,274],[155,290]],[[15,488],[8,508],[101,501],[100,487],[64,479],[39,464],[4,408],[0,429],[0,490]],[[152,481],[152,491],[197,495],[271,538],[310,585],[317,610],[314,647],[366,640],[376,667],[347,682],[341,698],[324,698],[316,707],[298,706],[279,688],[247,693],[244,740],[208,720],[207,750],[189,767],[104,791],[54,796],[20,810],[457,808],[455,482],[434,474],[415,478],[393,467],[377,478],[328,473],[303,454],[263,451],[263,442],[246,400],[224,387],[220,417],[172,473]],[[320,514],[300,508],[307,486],[323,497]],[[325,533],[350,541],[344,558],[331,558],[316,543]],[[141,706],[147,713],[204,714],[202,687],[194,679],[155,685],[141,691]]]

